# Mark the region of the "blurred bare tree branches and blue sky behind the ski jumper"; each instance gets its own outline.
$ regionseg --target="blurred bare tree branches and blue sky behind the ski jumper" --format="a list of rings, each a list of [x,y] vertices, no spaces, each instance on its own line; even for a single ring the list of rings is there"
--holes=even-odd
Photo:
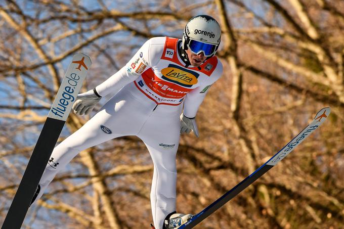
[[[177,211],[202,210],[330,106],[306,142],[197,228],[343,227],[341,0],[2,1],[0,219],[73,54],[93,62],[85,91],[148,38],[181,38],[198,14],[221,24],[224,73],[199,109],[200,138],[181,136]],[[71,114],[59,142],[89,118]],[[133,136],[83,151],[29,210],[23,228],[148,228],[152,169]]]

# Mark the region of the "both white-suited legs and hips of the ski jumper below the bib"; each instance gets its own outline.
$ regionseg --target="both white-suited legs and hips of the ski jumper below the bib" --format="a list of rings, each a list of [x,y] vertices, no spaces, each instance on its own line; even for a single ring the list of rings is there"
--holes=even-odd
[[[56,173],[80,151],[119,136],[136,135],[147,146],[154,163],[150,199],[155,228],[162,228],[166,215],[176,210],[181,106],[156,106],[148,98],[133,96],[131,89],[126,86],[120,90],[93,118],[55,147],[39,181],[37,199]]]

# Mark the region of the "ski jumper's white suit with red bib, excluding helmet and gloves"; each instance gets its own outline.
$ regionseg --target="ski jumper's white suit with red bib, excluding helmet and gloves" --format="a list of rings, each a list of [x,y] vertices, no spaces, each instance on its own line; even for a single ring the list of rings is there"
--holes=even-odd
[[[44,190],[80,151],[125,135],[138,136],[154,164],[150,194],[155,227],[176,210],[176,153],[180,119],[196,116],[209,86],[222,75],[211,57],[200,67],[187,67],[179,55],[181,41],[155,37],[144,43],[117,73],[96,87],[100,96],[115,95],[80,129],[55,147],[39,185]]]

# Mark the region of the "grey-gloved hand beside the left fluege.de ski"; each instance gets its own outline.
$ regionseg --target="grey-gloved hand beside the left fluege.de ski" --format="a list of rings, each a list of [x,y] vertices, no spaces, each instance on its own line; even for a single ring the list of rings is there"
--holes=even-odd
[[[95,94],[94,90],[77,95],[73,104],[74,113],[77,115],[90,114],[101,98]]]

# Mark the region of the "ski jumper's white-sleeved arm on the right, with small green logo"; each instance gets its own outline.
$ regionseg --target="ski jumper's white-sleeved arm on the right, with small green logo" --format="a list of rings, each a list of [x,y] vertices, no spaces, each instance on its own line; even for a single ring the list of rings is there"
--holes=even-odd
[[[196,116],[199,106],[203,102],[205,95],[208,93],[209,87],[221,77],[222,72],[223,67],[219,60],[216,69],[209,76],[206,83],[196,87],[186,94],[184,100],[184,116],[188,118],[194,118]]]

